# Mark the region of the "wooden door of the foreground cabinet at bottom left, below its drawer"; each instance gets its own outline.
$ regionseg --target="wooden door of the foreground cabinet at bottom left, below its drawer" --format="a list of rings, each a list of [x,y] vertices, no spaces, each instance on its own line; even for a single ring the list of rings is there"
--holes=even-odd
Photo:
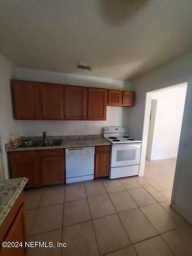
[[[21,207],[16,219],[13,222],[12,227],[9,230],[8,235],[5,237],[4,242],[19,242],[22,243],[22,247],[2,247],[0,250],[0,255],[2,256],[24,256],[26,253],[26,248],[24,243],[26,242],[25,235],[25,216],[23,206]]]

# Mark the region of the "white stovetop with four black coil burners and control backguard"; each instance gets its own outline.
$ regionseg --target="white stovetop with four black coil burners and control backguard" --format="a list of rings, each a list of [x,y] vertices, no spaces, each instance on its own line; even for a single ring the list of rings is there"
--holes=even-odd
[[[112,144],[123,144],[123,143],[140,143],[141,140],[132,138],[129,135],[128,128],[112,126],[103,128],[103,137],[110,141]]]

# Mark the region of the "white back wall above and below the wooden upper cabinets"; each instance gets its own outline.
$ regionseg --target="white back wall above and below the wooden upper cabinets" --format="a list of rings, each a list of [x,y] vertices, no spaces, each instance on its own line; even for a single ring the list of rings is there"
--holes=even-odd
[[[88,71],[89,73],[89,71]],[[92,76],[79,76],[29,68],[16,68],[15,79],[93,86],[101,88],[116,88],[129,90],[129,82],[106,79]],[[101,134],[104,126],[127,125],[128,108],[107,107],[107,121],[21,121],[23,136],[41,136],[43,131],[48,135],[82,135]],[[91,125],[91,130],[86,131],[85,125]]]

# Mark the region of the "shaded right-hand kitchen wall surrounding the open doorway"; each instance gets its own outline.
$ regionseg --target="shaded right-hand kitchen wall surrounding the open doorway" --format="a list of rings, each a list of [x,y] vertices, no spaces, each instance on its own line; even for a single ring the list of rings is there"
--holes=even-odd
[[[136,92],[136,104],[133,108],[128,109],[128,127],[133,136],[142,138],[145,103],[147,102],[146,93],[184,82],[188,82],[188,88],[177,156],[172,206],[192,223],[192,51],[181,54],[161,67],[131,81],[131,89]],[[145,142],[147,145],[147,141]],[[146,148],[144,151],[141,161],[145,162]]]

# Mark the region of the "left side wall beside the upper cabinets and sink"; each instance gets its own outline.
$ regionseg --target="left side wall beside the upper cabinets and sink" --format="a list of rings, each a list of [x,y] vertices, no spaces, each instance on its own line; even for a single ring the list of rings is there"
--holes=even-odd
[[[9,142],[9,133],[14,133],[16,137],[21,136],[20,121],[13,119],[11,85],[14,65],[0,53],[0,126],[2,135],[3,161],[3,178],[9,178],[7,154],[5,153],[4,144]]]

